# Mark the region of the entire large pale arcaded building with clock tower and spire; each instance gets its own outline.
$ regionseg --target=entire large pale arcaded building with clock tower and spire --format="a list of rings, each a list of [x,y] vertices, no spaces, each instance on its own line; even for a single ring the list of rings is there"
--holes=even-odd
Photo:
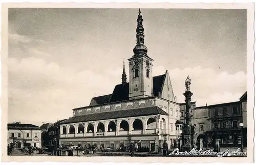
[[[137,44],[128,59],[129,82],[123,67],[121,84],[112,94],[94,97],[89,106],[73,109],[73,117],[60,123],[61,145],[117,150],[136,143],[140,148],[158,151],[164,140],[170,147],[180,135],[180,105],[168,71],[152,76],[153,59],[144,45],[140,11],[137,22]]]

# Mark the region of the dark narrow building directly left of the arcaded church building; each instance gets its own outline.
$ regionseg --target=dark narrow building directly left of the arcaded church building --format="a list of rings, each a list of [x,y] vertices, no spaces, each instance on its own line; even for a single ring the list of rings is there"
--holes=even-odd
[[[59,120],[55,123],[53,123],[47,131],[48,135],[48,145],[51,146],[59,146],[59,137],[60,137],[60,132],[59,132],[59,123],[62,121],[65,121],[67,119]]]

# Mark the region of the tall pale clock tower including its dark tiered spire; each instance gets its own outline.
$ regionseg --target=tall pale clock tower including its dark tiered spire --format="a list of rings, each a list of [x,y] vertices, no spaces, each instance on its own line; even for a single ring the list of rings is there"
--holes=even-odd
[[[137,18],[137,44],[133,49],[134,56],[129,60],[129,99],[138,99],[153,96],[153,59],[147,56],[147,47],[144,45],[143,19],[139,9]]]

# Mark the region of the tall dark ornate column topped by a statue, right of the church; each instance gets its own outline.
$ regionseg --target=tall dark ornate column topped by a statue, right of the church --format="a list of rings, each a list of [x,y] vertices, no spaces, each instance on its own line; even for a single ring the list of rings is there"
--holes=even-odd
[[[190,151],[191,149],[194,148],[194,134],[195,134],[195,126],[191,124],[191,96],[193,93],[190,92],[190,84],[191,84],[191,79],[189,76],[187,76],[185,80],[185,86],[186,86],[186,91],[183,93],[185,96],[185,103],[186,103],[186,109],[185,109],[185,125],[183,126],[183,132],[182,132],[182,146],[181,146],[181,151]]]

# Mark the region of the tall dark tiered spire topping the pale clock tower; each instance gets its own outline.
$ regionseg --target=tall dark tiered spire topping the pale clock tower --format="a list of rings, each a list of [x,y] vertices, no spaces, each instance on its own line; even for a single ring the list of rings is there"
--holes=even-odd
[[[139,9],[139,15],[137,18],[137,28],[136,28],[136,46],[133,49],[134,56],[139,56],[139,55],[146,55],[147,56],[147,47],[144,45],[144,28],[143,28],[143,19],[141,15],[141,11]]]

